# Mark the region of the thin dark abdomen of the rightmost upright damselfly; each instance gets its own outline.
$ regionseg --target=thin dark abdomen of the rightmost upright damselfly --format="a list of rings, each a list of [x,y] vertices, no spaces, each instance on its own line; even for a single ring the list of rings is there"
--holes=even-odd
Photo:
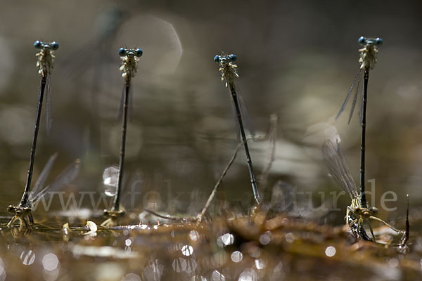
[[[369,68],[364,73],[364,95],[362,96],[362,139],[361,139],[361,168],[360,168],[360,201],[361,206],[368,207],[365,194],[365,138],[366,138],[366,102],[368,99]]]

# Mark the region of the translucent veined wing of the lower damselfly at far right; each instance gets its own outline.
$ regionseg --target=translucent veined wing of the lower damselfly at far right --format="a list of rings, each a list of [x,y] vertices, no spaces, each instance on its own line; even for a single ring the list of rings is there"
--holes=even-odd
[[[322,155],[324,162],[330,171],[331,176],[347,193],[350,198],[359,197],[356,184],[353,181],[350,169],[340,148],[340,143],[334,143],[327,139],[322,146]]]

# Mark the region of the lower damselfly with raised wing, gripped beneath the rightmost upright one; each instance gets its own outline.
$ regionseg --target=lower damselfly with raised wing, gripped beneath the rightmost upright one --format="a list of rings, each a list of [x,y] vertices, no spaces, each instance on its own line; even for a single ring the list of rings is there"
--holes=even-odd
[[[333,141],[335,141],[335,143],[333,143]],[[364,240],[383,244],[381,242],[377,242],[375,235],[373,235],[370,222],[370,220],[373,220],[385,224],[385,226],[388,226],[391,230],[393,230],[393,232],[397,233],[397,235],[402,235],[403,240],[406,232],[397,230],[381,218],[376,217],[376,214],[378,213],[378,209],[376,207],[369,207],[367,204],[361,204],[361,197],[356,188],[356,184],[354,183],[352,174],[350,173],[350,169],[347,166],[343,151],[340,148],[340,137],[338,135],[324,141],[322,154],[331,176],[338,185],[340,185],[349,194],[350,199],[352,200],[352,204],[347,206],[345,221],[354,235],[356,235],[357,238],[362,237]],[[364,230],[365,223],[369,227],[372,237],[369,237],[366,234],[366,231]]]

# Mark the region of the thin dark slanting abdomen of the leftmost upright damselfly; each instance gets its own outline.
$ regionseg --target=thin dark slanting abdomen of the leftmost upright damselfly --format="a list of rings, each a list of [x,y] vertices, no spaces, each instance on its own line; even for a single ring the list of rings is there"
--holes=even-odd
[[[34,124],[34,138],[32,140],[31,156],[30,156],[30,169],[28,170],[27,183],[25,185],[25,192],[23,192],[22,199],[20,200],[20,207],[28,207],[28,200],[30,196],[31,189],[31,180],[32,180],[32,171],[34,170],[34,159],[35,159],[35,150],[37,148],[37,138],[39,131],[39,120],[41,119],[41,109],[42,109],[42,100],[44,99],[44,90],[46,89],[47,76],[41,76],[41,85],[39,86],[38,93],[38,104],[37,104],[37,113],[35,115],[35,124]]]

